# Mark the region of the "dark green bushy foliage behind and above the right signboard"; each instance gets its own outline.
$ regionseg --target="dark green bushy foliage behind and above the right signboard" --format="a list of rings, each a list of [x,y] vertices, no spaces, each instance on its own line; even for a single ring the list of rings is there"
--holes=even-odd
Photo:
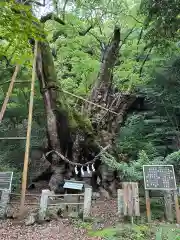
[[[145,110],[129,114],[121,127],[116,139],[117,151],[126,156],[121,177],[141,180],[142,165],[154,163],[173,164],[178,173],[179,66],[179,58],[175,58],[156,70],[142,88]],[[119,160],[124,161],[121,157]]]

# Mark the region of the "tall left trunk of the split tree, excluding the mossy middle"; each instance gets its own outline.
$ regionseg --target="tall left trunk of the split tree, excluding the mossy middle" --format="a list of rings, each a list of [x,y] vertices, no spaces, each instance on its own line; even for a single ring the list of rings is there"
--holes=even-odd
[[[60,96],[56,91],[58,87],[57,77],[47,42],[39,42],[38,44],[37,76],[47,116],[48,148],[49,150],[61,152],[64,156],[67,154],[68,157],[72,157],[67,153],[68,144],[71,141],[68,117],[63,110],[63,106],[59,101]],[[63,97],[61,96],[61,98]],[[53,171],[49,186],[56,191],[58,185],[63,184],[66,164],[57,154],[51,154],[49,159]]]

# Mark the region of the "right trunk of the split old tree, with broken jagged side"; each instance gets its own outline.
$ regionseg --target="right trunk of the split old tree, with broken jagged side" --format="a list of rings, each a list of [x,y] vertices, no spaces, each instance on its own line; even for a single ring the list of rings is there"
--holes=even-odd
[[[113,87],[113,69],[118,61],[120,47],[120,28],[115,27],[111,42],[106,47],[102,59],[101,68],[95,86],[91,92],[89,100],[109,109],[99,110],[94,105],[85,106],[88,109],[87,114],[91,118],[93,126],[101,145],[104,147],[108,144],[113,145],[113,141],[120,126],[123,124],[128,108],[134,102],[135,97],[131,94],[123,94],[115,91]],[[115,191],[115,172],[105,164],[101,164],[100,173],[102,186],[110,192]]]

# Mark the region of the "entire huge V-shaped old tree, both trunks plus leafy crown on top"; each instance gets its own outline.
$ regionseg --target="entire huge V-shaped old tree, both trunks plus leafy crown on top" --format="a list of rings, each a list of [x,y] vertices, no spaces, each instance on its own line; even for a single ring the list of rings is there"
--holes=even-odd
[[[48,144],[44,151],[55,150],[60,153],[58,155],[52,152],[47,157],[52,173],[49,186],[51,190],[61,191],[64,179],[75,175],[74,165],[69,164],[67,159],[70,162],[85,164],[93,160],[101,149],[108,145],[111,146],[109,151],[113,154],[112,146],[116,133],[123,124],[128,109],[136,101],[135,92],[132,91],[133,81],[129,81],[126,91],[120,91],[121,89],[115,86],[114,76],[117,81],[118,69],[121,68],[121,64],[123,65],[120,57],[121,48],[127,38],[133,32],[136,32],[136,24],[141,24],[141,22],[135,20],[135,25],[124,31],[126,26],[122,27],[122,24],[118,21],[118,14],[123,11],[128,14],[128,7],[124,2],[95,1],[88,4],[83,1],[74,3],[68,1],[64,3],[53,2],[55,10],[43,15],[40,19],[33,15],[33,7],[36,9],[41,5],[46,6],[46,1],[40,3],[33,0],[17,0],[8,1],[4,4],[9,11],[9,16],[12,19],[15,18],[15,23],[19,23],[20,33],[25,26],[28,27],[28,33],[23,41],[26,40],[27,45],[30,43],[31,48],[34,49],[34,42],[38,40],[36,73],[47,120]],[[59,4],[61,4],[61,11],[59,11]],[[78,30],[76,30],[76,34],[82,38],[88,34],[94,35],[100,45],[101,56],[98,59],[99,70],[87,91],[88,101],[81,101],[77,109],[69,108],[68,96],[65,95],[61,86],[61,79],[58,79],[56,74],[53,59],[54,49],[52,51],[50,47],[50,43],[64,37],[67,32],[63,33],[62,29],[57,31],[53,40],[49,42],[45,30],[48,21],[51,22],[51,27],[53,24],[58,24],[63,26],[64,29],[66,27],[68,29],[72,24],[68,17],[75,15],[72,11],[68,10],[68,12],[66,10],[70,6],[74,8],[74,13],[83,23],[81,29],[81,26],[78,25],[79,22],[77,22]],[[107,6],[109,10],[106,10]],[[4,16],[7,17],[7,15]],[[52,24],[52,22],[54,23]],[[103,36],[101,29],[105,22],[112,27],[111,34],[109,33],[109,36],[111,35],[109,41],[105,38],[106,36]],[[24,23],[27,25],[24,25]],[[101,33],[101,38],[96,36],[97,31]],[[2,34],[1,38],[6,41],[9,40],[8,35]],[[68,64],[69,68],[73,67],[73,63]],[[63,78],[66,78],[66,76]],[[72,121],[75,121],[75,124],[72,124]],[[95,187],[97,175],[100,173],[101,187],[113,192],[115,189],[115,172],[108,165],[102,163],[102,159],[103,156],[100,156],[95,162],[96,172],[93,173],[92,184]],[[44,171],[44,168],[42,169]],[[43,173],[43,171],[40,170],[40,173]]]

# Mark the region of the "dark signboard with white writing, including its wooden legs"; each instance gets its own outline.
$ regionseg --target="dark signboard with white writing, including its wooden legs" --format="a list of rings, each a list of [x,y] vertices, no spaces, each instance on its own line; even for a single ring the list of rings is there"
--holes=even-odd
[[[147,211],[148,222],[151,221],[149,191],[159,190],[159,191],[166,191],[166,194],[165,194],[166,200],[168,199],[167,196],[171,195],[171,191],[173,192],[175,208],[176,208],[176,220],[177,220],[177,223],[180,224],[180,210],[179,210],[179,204],[177,200],[176,178],[174,174],[173,165],[144,165],[143,175],[144,175],[146,211]],[[169,204],[172,205],[171,199],[169,203],[165,203],[165,206],[168,206]],[[166,209],[166,213],[168,213],[169,218],[171,218],[171,214],[169,212],[169,210],[171,209],[171,206],[168,206],[168,208],[169,209]]]

